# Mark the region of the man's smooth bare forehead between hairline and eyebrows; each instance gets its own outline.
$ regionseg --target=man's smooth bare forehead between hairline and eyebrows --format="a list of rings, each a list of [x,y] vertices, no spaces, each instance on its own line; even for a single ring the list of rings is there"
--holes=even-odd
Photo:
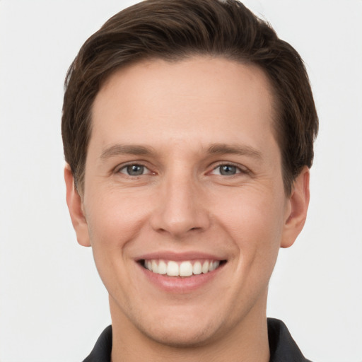
[[[91,144],[171,137],[253,146],[253,136],[259,144],[270,136],[273,118],[271,87],[257,66],[210,57],[152,59],[119,69],[103,84],[93,104]]]

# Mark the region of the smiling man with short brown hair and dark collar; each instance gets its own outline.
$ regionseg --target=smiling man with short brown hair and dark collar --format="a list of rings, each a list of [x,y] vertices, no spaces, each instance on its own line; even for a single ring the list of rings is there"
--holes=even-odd
[[[237,1],[148,0],[92,35],[62,118],[112,317],[85,361],[307,361],[266,305],[316,134],[303,61]]]

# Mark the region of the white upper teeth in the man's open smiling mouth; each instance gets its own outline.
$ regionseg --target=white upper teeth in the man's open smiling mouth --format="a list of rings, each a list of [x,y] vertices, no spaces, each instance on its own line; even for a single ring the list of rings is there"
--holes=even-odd
[[[162,259],[140,260],[140,264],[152,273],[182,277],[206,274],[218,269],[225,263],[226,260],[185,260],[183,262]]]

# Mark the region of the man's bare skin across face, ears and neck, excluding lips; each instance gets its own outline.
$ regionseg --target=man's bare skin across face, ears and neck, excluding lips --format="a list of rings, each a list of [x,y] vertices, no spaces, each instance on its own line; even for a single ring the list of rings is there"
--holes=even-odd
[[[132,64],[100,89],[83,194],[69,167],[65,180],[78,243],[93,248],[110,294],[113,362],[269,361],[269,278],[309,202],[306,167],[284,192],[273,117],[263,71],[222,58]],[[129,164],[144,173],[128,175]],[[223,175],[221,164],[235,168]],[[137,262],[158,251],[206,252],[226,264],[173,293]]]

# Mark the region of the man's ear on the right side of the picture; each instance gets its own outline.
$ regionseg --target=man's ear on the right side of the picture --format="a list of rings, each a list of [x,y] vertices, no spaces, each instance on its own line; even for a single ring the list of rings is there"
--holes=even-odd
[[[291,195],[287,200],[281,247],[290,247],[303,229],[309,205],[309,168],[305,166],[293,182]]]

